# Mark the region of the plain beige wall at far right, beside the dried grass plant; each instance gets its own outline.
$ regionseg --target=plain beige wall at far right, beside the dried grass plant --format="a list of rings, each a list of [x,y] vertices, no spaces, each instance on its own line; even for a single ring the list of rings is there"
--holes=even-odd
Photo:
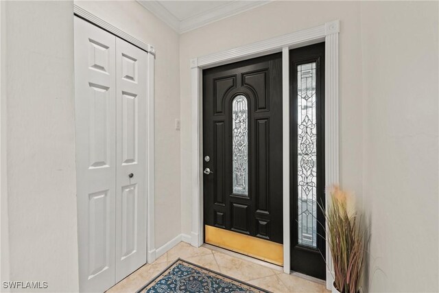
[[[438,2],[364,2],[361,23],[369,290],[439,292]]]

